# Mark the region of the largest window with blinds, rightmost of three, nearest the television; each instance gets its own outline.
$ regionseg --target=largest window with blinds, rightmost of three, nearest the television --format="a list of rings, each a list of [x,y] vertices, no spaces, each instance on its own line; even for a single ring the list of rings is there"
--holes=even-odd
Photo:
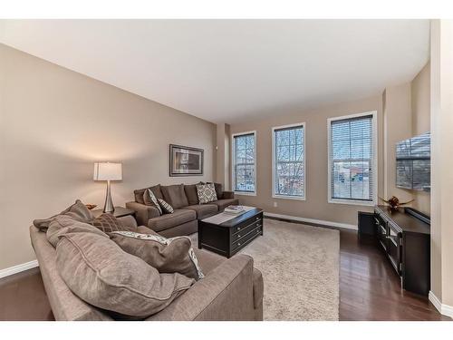
[[[329,129],[329,202],[376,202],[376,112],[333,118]]]

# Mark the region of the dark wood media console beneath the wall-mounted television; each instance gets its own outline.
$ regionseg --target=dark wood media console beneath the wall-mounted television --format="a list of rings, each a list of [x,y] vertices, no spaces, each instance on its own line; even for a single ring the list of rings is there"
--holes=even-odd
[[[400,276],[401,287],[428,296],[430,288],[429,218],[417,210],[374,208],[359,213],[359,237],[374,238]]]

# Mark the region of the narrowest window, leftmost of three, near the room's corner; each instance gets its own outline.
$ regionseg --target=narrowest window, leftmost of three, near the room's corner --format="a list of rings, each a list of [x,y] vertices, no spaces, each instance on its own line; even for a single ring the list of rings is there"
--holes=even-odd
[[[255,195],[255,131],[233,135],[233,188],[236,193]]]

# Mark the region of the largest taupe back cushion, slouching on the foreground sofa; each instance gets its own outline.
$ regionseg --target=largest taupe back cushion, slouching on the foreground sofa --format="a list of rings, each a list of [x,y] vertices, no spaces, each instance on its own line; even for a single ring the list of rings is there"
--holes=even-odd
[[[76,296],[121,316],[153,315],[195,282],[178,273],[159,274],[110,238],[86,232],[63,235],[56,266]]]

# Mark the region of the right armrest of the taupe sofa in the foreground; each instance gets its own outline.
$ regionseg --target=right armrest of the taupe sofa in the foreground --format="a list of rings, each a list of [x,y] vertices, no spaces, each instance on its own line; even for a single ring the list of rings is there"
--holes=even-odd
[[[148,320],[254,320],[253,258],[236,255]]]

